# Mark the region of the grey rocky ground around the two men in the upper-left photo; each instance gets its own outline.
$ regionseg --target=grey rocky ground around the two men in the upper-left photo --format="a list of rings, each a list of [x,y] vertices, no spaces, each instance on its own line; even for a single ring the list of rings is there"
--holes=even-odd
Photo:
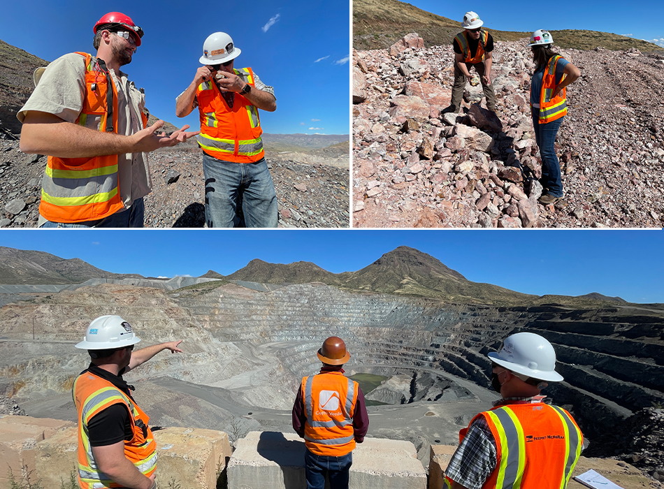
[[[338,152],[337,152],[338,153]],[[348,154],[270,154],[268,166],[279,201],[279,227],[349,226]],[[340,163],[345,159],[345,166]],[[46,157],[23,154],[10,134],[0,134],[0,227],[37,224]],[[152,194],[145,198],[145,226],[205,226],[203,163],[195,147],[150,154]]]

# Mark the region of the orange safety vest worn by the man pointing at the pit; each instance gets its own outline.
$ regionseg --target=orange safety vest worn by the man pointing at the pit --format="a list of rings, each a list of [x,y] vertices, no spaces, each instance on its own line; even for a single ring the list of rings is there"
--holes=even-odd
[[[92,456],[87,423],[103,409],[124,404],[129,411],[133,438],[124,441],[124,455],[136,469],[149,477],[157,469],[157,442],[147,425],[150,418],[131,398],[108,380],[83,372],[74,381],[72,395],[78,410],[78,483],[82,489],[118,488],[107,479]]]

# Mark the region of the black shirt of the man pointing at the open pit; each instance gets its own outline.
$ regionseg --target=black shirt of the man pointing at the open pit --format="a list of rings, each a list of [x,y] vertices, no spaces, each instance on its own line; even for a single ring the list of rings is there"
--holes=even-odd
[[[84,372],[86,371],[84,370]],[[92,364],[88,367],[87,372],[108,380],[133,400],[127,382],[122,379],[123,372],[120,372],[119,376],[113,375]],[[87,429],[92,446],[113,445],[119,441],[129,441],[133,438],[129,411],[124,404],[113,404],[92,416],[87,423]]]

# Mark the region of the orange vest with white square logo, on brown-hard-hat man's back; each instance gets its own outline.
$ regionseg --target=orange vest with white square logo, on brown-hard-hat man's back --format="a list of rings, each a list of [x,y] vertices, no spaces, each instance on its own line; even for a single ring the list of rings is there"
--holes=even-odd
[[[341,372],[326,372],[304,377],[301,391],[307,416],[304,442],[309,451],[336,457],[353,451],[357,382]]]

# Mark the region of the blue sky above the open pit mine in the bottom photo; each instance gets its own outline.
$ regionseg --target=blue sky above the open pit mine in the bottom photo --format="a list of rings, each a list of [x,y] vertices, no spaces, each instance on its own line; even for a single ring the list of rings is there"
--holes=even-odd
[[[0,246],[81,258],[97,268],[145,277],[222,275],[253,258],[310,261],[340,273],[405,245],[472,282],[536,295],[599,292],[664,303],[664,231],[487,230],[13,230]]]

